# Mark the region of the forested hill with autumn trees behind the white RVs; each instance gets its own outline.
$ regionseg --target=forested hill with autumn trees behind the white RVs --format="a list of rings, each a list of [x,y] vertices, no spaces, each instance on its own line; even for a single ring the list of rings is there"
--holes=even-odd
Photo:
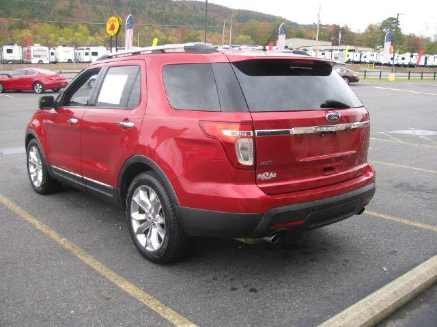
[[[3,24],[7,23],[7,28],[1,29],[3,31],[3,39],[7,38],[4,35],[6,30],[32,29],[33,24],[37,23],[35,20],[88,23],[83,25],[87,26],[90,36],[94,36],[96,33],[102,33],[104,36],[104,25],[90,23],[104,23],[111,15],[121,16],[125,20],[128,14],[133,14],[135,32],[139,32],[140,35],[142,34],[146,37],[146,34],[149,36],[149,34],[153,34],[151,31],[156,30],[155,34],[159,34],[158,36],[161,39],[176,38],[178,41],[184,41],[184,39],[188,38],[197,38],[194,34],[199,34],[198,37],[201,36],[200,32],[203,30],[205,23],[205,2],[173,0],[0,1],[0,17],[22,19],[3,20]],[[247,33],[251,36],[253,43],[262,43],[266,35],[271,34],[273,31],[271,26],[278,22],[284,21],[290,27],[298,25],[273,15],[251,10],[233,10],[228,7],[208,3],[208,32],[211,33],[209,41],[221,43],[223,20],[227,18],[227,30],[229,30],[229,19],[231,17],[235,36],[238,37],[239,34]],[[2,20],[0,18],[1,23]],[[64,28],[69,25],[57,23],[56,26]],[[243,26],[245,30],[240,29]],[[251,26],[251,28],[248,30],[247,26]],[[187,33],[190,35],[187,36]],[[226,35],[229,35],[229,31],[226,32]],[[38,37],[38,33],[34,37]],[[99,43],[98,40],[95,41]]]

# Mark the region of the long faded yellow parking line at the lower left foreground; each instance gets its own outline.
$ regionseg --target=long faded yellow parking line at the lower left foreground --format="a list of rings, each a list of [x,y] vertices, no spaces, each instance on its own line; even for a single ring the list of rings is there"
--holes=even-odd
[[[141,303],[145,304],[147,307],[160,314],[163,318],[170,321],[170,323],[176,326],[196,326],[191,321],[182,317],[179,313],[171,310],[159,300],[156,300],[156,298],[154,298],[153,296],[149,295],[148,293],[141,290],[139,287],[128,282],[126,279],[118,275],[113,270],[109,269],[103,263],[94,259],[91,255],[80,249],[78,246],[63,238],[60,234],[49,228],[47,225],[36,220],[31,214],[15,204],[13,201],[10,201],[2,194],[0,194],[0,202],[2,202],[10,210],[14,211],[21,218],[26,220],[28,223],[33,225],[40,232],[49,236],[50,238],[52,238],[52,240],[62,245],[65,249],[75,255],[82,262],[84,262],[97,272],[100,272],[102,276],[106,277],[112,283],[120,287],[122,290],[135,297],[135,299],[139,300]]]

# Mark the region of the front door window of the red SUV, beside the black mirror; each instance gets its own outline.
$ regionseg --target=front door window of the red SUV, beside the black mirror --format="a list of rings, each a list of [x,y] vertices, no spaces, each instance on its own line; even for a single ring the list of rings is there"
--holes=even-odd
[[[66,89],[62,99],[64,107],[88,106],[100,68],[90,69],[80,75],[71,86]]]

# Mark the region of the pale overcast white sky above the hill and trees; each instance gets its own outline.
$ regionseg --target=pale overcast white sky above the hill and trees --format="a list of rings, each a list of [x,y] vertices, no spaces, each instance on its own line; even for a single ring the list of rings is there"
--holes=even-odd
[[[353,31],[363,32],[368,24],[379,23],[387,17],[399,17],[402,32],[423,36],[437,34],[437,0],[208,0],[234,9],[255,10],[277,15],[299,24],[317,20],[319,3],[322,4],[320,21],[323,24],[347,25]]]

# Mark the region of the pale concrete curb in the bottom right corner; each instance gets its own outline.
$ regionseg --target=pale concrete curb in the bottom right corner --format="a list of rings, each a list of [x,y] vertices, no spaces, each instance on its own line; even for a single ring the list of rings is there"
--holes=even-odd
[[[319,327],[375,326],[436,282],[437,255],[434,255]]]

